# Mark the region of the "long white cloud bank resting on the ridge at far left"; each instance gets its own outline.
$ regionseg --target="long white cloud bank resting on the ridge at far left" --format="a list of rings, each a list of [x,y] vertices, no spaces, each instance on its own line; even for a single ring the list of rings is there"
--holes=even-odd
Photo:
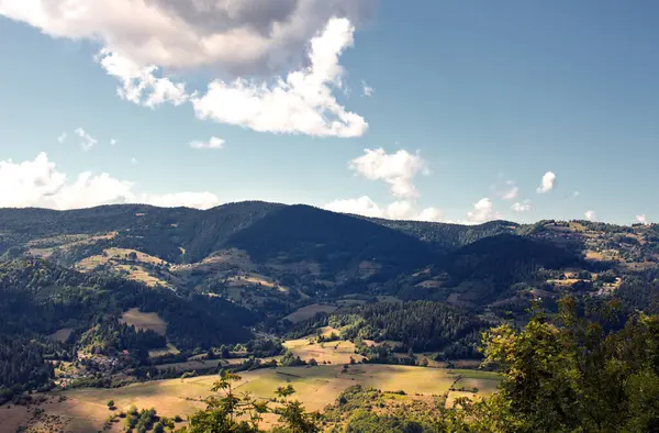
[[[78,209],[99,204],[149,203],[155,206],[188,206],[211,208],[220,200],[210,192],[181,192],[170,195],[138,193],[135,184],[113,178],[107,173],[93,175],[85,171],[69,180],[45,153],[34,160],[14,163],[0,160],[0,207],[41,207],[51,209]]]

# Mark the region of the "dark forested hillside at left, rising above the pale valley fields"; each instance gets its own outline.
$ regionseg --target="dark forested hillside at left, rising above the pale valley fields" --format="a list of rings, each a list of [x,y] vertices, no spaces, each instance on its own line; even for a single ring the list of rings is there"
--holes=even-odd
[[[154,312],[163,334],[120,321],[129,309]],[[48,382],[44,358],[74,359],[76,351],[113,355],[129,351],[143,363],[147,351],[172,343],[180,349],[219,347],[253,337],[257,318],[221,298],[177,296],[169,289],[101,274],[80,274],[40,258],[0,262],[0,390]],[[57,338],[58,332],[68,336]],[[2,400],[2,395],[0,395]]]

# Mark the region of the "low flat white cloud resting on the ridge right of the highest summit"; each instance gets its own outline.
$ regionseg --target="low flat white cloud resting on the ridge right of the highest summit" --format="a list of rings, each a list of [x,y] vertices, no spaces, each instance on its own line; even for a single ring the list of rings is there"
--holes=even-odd
[[[409,221],[442,221],[443,212],[437,208],[425,208],[421,211],[415,203],[407,200],[394,201],[380,207],[368,196],[357,199],[335,200],[325,204],[326,210],[340,213],[351,213],[371,218],[386,218],[390,220]]]

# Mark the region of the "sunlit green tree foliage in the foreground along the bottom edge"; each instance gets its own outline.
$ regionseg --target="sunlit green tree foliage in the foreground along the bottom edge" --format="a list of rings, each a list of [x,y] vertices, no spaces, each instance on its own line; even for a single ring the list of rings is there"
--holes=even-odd
[[[659,431],[659,317],[637,313],[619,331],[607,331],[616,319],[612,302],[597,311],[582,311],[566,298],[559,313],[536,313],[521,331],[509,325],[487,333],[485,362],[499,367],[499,392],[479,402],[445,400],[424,417],[375,413],[354,406],[344,412],[347,432],[654,432]],[[597,320],[590,319],[597,317]],[[248,396],[237,398],[223,374],[206,411],[191,418],[186,432],[259,432],[263,413],[280,415],[281,432],[317,432],[316,414],[288,401],[291,388],[276,408]],[[337,404],[340,404],[338,402]],[[242,421],[237,421],[241,419]]]

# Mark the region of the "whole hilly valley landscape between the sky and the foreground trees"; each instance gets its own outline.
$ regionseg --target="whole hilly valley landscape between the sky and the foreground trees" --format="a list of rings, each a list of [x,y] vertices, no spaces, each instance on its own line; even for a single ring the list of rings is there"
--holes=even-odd
[[[258,401],[291,385],[327,431],[365,399],[379,417],[439,417],[498,390],[500,366],[483,363],[496,326],[522,330],[565,297],[626,317],[657,304],[657,225],[242,202],[0,209],[0,415],[14,430],[121,431],[132,406],[181,428],[222,371]]]

